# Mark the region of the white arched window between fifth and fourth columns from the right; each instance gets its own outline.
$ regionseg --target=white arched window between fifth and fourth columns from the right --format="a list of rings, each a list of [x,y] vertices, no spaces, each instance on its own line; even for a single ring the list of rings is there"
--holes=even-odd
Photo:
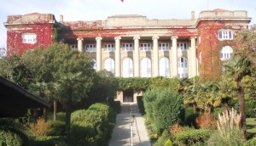
[[[133,64],[130,58],[123,60],[123,77],[133,77]]]

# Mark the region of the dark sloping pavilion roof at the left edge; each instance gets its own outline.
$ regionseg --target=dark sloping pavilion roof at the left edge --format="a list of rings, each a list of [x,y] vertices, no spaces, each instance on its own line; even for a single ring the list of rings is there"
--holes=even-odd
[[[0,76],[0,118],[19,117],[27,109],[49,108],[50,104],[12,81]]]

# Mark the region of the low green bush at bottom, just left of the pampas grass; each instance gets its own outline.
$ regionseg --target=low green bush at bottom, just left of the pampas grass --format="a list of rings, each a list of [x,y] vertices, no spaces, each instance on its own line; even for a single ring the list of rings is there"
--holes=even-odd
[[[207,129],[189,130],[178,133],[175,138],[178,145],[207,145],[212,132]]]

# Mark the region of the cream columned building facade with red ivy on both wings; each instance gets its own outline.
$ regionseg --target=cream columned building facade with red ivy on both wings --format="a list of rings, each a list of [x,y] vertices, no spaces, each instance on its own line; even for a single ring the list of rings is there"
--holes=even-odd
[[[90,53],[96,70],[119,77],[218,78],[229,59],[238,31],[248,29],[246,11],[214,9],[189,20],[148,20],[141,15],[114,15],[107,20],[57,22],[53,14],[10,15],[7,48],[23,53],[49,46],[57,37],[71,48]],[[131,99],[141,95],[134,91]],[[123,93],[120,100],[125,101]]]

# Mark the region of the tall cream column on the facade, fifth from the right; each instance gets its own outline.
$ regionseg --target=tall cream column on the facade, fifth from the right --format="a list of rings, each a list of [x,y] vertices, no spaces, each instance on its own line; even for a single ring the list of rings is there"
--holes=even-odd
[[[115,36],[115,52],[114,52],[114,63],[115,63],[115,76],[119,77],[121,76],[121,70],[120,70],[120,36]]]

